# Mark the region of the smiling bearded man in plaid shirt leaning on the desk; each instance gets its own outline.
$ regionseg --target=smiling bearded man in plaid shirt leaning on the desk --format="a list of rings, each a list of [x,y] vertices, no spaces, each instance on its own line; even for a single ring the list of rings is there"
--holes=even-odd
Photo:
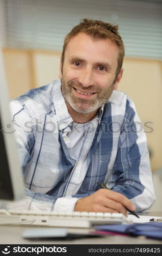
[[[11,102],[26,198],[6,208],[127,215],[152,205],[146,136],[132,100],[115,91],[123,57],[117,26],[83,19],[65,37],[60,80]]]

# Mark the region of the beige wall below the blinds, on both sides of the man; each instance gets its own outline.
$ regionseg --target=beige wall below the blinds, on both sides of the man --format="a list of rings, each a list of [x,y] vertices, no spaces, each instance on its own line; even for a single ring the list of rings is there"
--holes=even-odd
[[[58,79],[60,52],[4,50],[5,67],[11,98],[25,91]],[[119,90],[124,91],[136,104],[143,122],[153,132],[147,133],[153,155],[152,169],[162,166],[162,86],[161,62],[125,58],[124,74]],[[145,131],[150,131],[145,128]]]

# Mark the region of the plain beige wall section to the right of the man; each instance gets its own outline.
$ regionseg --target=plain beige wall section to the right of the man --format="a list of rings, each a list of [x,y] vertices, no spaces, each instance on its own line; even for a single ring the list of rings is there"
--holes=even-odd
[[[152,150],[152,169],[162,167],[162,73],[161,62],[155,60],[125,59],[124,73],[119,90],[127,93],[136,104],[143,125],[147,121],[153,128],[145,128],[148,146]]]

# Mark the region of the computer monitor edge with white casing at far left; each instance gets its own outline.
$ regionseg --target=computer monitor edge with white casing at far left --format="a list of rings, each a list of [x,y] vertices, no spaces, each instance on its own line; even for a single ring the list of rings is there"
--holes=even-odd
[[[0,81],[0,200],[14,201],[23,198],[24,185],[15,135],[10,131],[9,96],[1,49]]]

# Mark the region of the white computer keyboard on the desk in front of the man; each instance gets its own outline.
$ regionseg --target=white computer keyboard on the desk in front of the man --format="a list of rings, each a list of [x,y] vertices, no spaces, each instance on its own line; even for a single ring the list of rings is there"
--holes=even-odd
[[[123,214],[109,212],[47,212],[0,209],[0,225],[89,228],[94,225],[130,224]]]

